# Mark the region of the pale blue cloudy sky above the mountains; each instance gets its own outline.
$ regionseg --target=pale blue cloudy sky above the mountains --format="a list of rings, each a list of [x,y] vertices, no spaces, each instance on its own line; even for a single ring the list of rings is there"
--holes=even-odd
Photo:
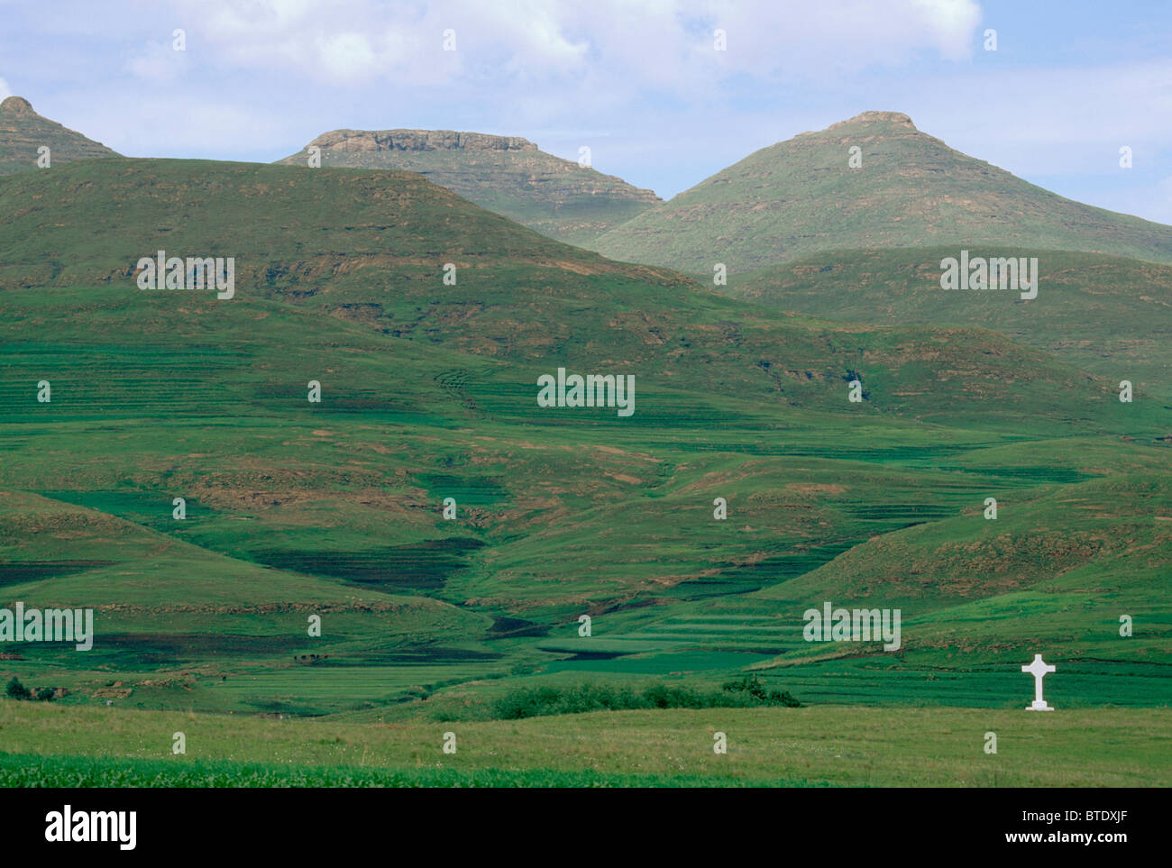
[[[905,111],[1035,184],[1172,224],[1172,2],[0,0],[8,94],[130,156],[476,130],[570,159],[588,145],[665,198],[798,132]]]

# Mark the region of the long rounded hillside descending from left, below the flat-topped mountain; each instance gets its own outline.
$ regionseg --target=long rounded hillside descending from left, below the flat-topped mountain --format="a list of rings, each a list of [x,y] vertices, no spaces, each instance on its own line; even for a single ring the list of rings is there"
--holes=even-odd
[[[635,371],[645,389],[851,411],[859,378],[858,409],[924,419],[1099,425],[1116,412],[1109,382],[995,333],[779,316],[559,244],[407,172],[95,162],[4,179],[0,211],[0,288],[103,287],[129,303],[148,295],[136,264],[158,250],[232,257],[234,300],[199,303],[279,299],[516,364]]]

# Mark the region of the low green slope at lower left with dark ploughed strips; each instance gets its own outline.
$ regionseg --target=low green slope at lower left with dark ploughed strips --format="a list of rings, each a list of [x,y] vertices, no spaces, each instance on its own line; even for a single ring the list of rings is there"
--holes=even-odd
[[[101,494],[109,503],[111,493]],[[132,497],[122,491],[124,500]],[[6,642],[7,671],[63,688],[73,702],[134,697],[155,708],[224,708],[193,693],[200,682],[297,672],[306,655],[360,665],[410,658],[414,649],[475,640],[491,626],[438,600],[243,561],[96,508],[12,490],[0,490],[0,600],[8,608],[93,613],[89,649]],[[316,637],[311,618],[321,626]],[[342,690],[333,702],[349,708],[361,698]],[[282,708],[321,706],[286,696]]]

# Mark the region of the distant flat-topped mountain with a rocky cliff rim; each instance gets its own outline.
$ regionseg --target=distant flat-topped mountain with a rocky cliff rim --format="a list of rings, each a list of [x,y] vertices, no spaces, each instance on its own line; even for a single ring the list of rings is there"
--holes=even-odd
[[[322,168],[418,172],[481,207],[571,244],[588,241],[660,203],[633,187],[513,136],[450,130],[334,130],[280,160]]]

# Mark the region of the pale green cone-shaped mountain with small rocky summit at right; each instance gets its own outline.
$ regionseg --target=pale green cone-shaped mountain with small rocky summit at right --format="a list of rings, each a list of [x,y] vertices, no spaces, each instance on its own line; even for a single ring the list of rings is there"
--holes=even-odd
[[[858,148],[861,165],[849,165]],[[713,274],[822,251],[952,245],[1086,251],[1172,261],[1172,227],[1064,199],[866,111],[756,151],[588,246],[607,257]]]

